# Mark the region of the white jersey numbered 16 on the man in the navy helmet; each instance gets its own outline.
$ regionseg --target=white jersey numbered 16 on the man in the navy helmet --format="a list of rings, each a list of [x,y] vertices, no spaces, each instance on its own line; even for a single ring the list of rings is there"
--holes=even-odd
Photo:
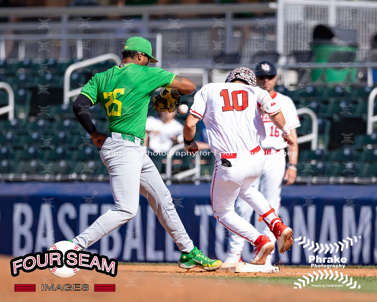
[[[282,106],[282,112],[290,130],[301,126],[297,109],[290,97],[275,92],[272,99],[277,100]],[[262,115],[262,120],[266,131],[266,138],[261,141],[262,148],[276,150],[287,148],[288,144],[282,138],[282,131],[274,125],[267,113]]]

